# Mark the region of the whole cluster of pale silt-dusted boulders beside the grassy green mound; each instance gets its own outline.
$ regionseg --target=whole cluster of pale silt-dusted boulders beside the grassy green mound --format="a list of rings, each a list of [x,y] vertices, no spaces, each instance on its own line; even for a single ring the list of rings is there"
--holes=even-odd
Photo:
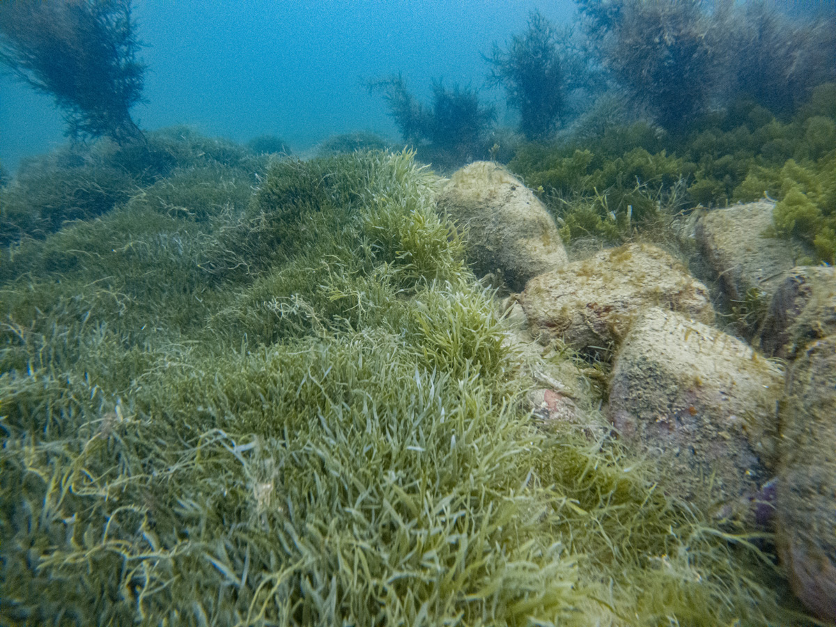
[[[502,273],[512,289],[528,281],[503,310],[538,425],[596,441],[612,425],[657,461],[668,494],[750,528],[774,518],[795,593],[836,622],[836,276],[795,268],[793,244],[767,237],[772,204],[709,212],[696,237],[726,299],[771,298],[755,340],[795,359],[786,384],[775,361],[710,326],[707,288],[667,252],[630,244],[567,263],[543,207],[493,164],[457,172],[438,205],[468,227],[477,273]],[[552,339],[614,349],[609,422],[594,420],[577,364],[543,354]]]

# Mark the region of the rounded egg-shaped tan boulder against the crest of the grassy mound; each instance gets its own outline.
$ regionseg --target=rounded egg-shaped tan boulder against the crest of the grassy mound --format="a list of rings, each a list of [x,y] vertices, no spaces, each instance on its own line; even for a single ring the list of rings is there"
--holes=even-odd
[[[438,207],[465,227],[478,276],[502,273],[518,292],[529,278],[566,263],[566,249],[543,203],[507,170],[477,161],[451,176]]]

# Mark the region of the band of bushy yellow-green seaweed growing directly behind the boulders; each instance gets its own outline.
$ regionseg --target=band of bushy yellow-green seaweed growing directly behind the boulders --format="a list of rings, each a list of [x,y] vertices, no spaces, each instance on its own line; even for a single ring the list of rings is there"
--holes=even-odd
[[[541,192],[568,239],[630,237],[660,214],[770,197],[776,234],[836,254],[836,84],[813,90],[792,120],[751,100],[706,115],[678,138],[646,122],[595,125],[528,143],[509,168]],[[585,125],[584,125],[585,123]]]

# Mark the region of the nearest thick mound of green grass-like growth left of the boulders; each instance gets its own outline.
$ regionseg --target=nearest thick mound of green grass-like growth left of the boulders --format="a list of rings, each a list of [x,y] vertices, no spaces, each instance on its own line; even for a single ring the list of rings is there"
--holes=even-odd
[[[248,206],[26,242],[0,622],[784,619],[746,538],[613,442],[533,428],[434,189],[409,153],[278,161]]]

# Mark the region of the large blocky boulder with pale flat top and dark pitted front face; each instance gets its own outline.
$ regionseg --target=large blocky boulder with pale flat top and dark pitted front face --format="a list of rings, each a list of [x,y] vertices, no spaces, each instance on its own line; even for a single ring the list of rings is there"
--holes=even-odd
[[[665,487],[749,514],[774,461],[783,373],[747,344],[652,308],[616,354],[607,415],[636,450],[660,459]],[[706,505],[707,503],[702,503]]]

